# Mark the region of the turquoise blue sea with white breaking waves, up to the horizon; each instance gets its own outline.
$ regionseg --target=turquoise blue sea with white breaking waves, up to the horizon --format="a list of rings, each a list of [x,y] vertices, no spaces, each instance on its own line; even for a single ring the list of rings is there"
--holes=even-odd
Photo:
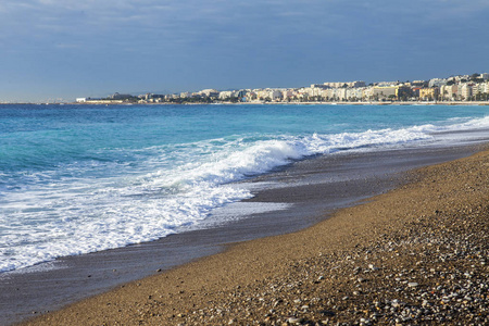
[[[488,105],[0,105],[0,273],[226,224],[298,160],[488,129]]]

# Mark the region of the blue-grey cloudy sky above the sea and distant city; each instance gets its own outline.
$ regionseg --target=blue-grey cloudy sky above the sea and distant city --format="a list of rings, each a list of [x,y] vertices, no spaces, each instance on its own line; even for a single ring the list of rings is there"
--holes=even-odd
[[[0,102],[489,72],[488,0],[2,0]]]

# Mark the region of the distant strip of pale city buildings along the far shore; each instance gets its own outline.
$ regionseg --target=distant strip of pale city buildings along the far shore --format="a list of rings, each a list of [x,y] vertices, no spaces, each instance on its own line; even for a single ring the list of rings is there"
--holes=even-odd
[[[255,88],[197,92],[123,95],[103,98],[77,98],[86,104],[154,104],[154,103],[413,103],[450,102],[488,104],[489,73],[431,78],[412,82],[379,82],[366,85],[356,82],[326,82],[300,88]]]

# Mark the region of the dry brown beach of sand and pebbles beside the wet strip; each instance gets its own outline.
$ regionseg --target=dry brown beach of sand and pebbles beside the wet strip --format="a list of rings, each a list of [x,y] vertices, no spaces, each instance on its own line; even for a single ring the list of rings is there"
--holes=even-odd
[[[486,325],[489,151],[22,325]]]

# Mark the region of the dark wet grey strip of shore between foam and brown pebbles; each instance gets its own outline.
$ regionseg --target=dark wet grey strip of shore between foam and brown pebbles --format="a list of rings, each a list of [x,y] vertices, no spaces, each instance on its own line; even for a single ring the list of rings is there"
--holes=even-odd
[[[237,241],[311,226],[334,210],[404,183],[403,171],[476,151],[482,138],[488,142],[489,133],[486,129],[476,134],[477,140],[466,141],[474,146],[404,146],[294,161],[272,173],[227,184],[247,189],[253,197],[215,209],[201,223],[180,227],[178,234],[4,272],[0,274],[0,324],[60,309],[156,271],[216,253]]]

